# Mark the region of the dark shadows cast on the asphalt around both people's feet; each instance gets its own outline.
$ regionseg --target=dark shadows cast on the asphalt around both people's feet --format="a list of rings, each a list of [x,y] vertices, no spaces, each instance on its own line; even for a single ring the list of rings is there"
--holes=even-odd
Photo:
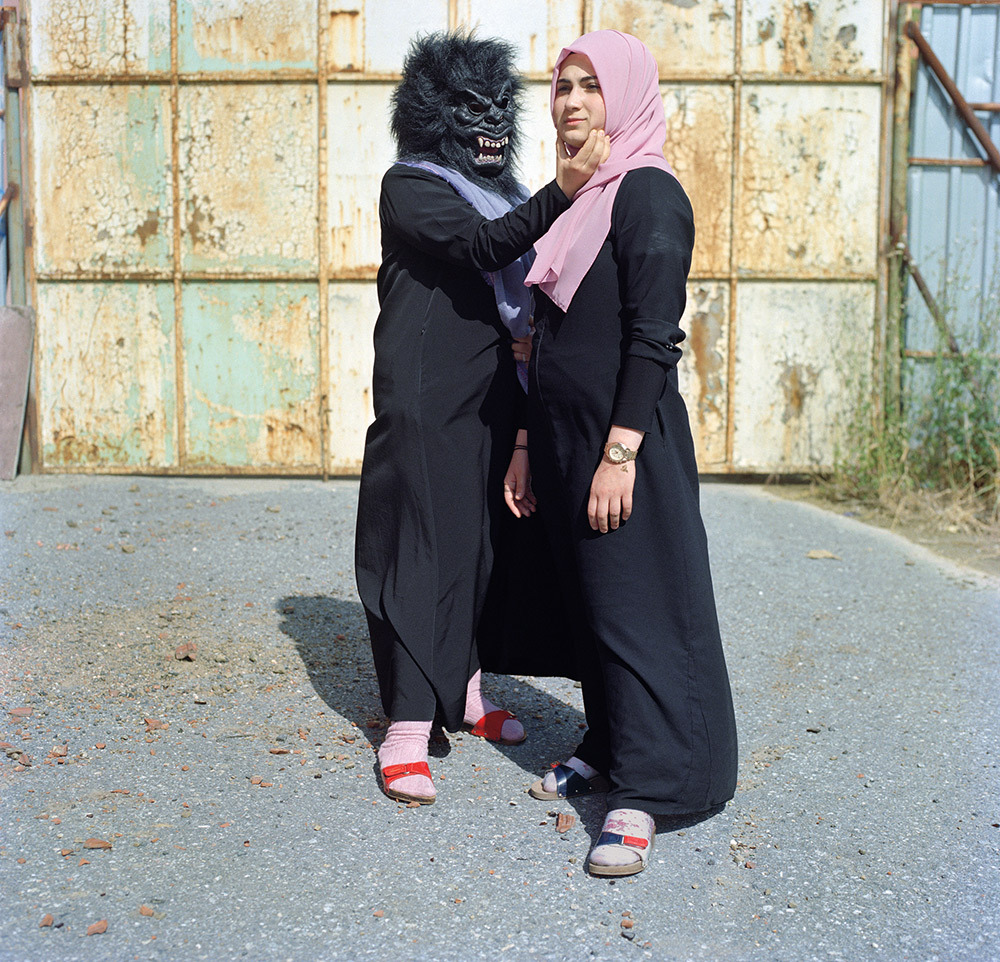
[[[278,602],[277,610],[282,616],[279,628],[298,648],[316,693],[329,708],[353,722],[359,736],[377,749],[385,732],[385,715],[361,603],[329,595],[289,595]],[[578,700],[574,698],[573,685],[571,681],[557,679],[548,687],[561,689],[564,698]],[[520,745],[493,743],[494,748],[530,776],[525,787],[555,760],[571,755],[583,735],[586,725],[579,708],[522,677],[484,674],[483,691],[494,704],[517,715],[528,733],[527,740]],[[451,739],[435,722],[428,754],[433,758],[447,757],[451,744]],[[607,810],[603,794],[535,804],[546,813],[570,805],[592,844],[600,835]],[[657,832],[683,831],[723,807],[693,815],[658,816]]]

